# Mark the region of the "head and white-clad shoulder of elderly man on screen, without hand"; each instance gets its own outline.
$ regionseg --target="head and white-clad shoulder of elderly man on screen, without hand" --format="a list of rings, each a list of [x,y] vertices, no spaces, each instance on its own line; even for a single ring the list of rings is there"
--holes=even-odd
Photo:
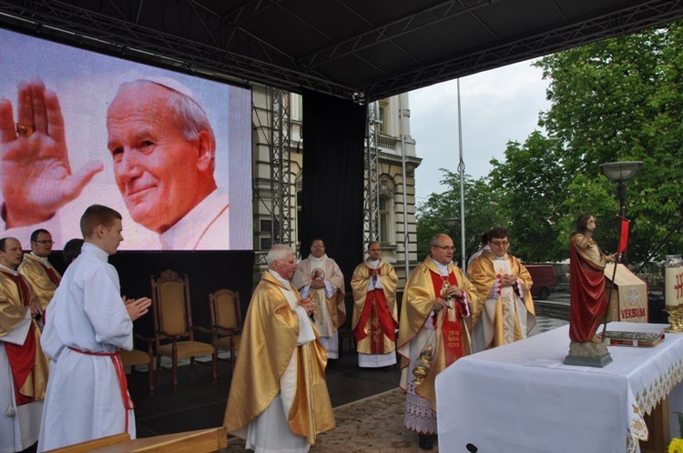
[[[181,90],[170,79],[122,85],[107,112],[107,147],[130,216],[163,248],[216,247],[229,237],[228,194],[213,176],[216,137]]]

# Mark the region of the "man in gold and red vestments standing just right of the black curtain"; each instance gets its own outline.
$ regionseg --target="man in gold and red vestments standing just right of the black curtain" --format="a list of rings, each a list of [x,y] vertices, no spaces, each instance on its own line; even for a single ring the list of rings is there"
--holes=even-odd
[[[396,271],[382,259],[377,241],[368,245],[368,259],[353,271],[352,332],[359,367],[389,367],[396,363]]]

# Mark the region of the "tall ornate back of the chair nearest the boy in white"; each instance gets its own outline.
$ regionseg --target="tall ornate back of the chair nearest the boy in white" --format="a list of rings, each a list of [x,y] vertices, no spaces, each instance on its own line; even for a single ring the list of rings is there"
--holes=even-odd
[[[160,337],[192,335],[188,276],[167,269],[158,278],[151,277],[154,327]]]

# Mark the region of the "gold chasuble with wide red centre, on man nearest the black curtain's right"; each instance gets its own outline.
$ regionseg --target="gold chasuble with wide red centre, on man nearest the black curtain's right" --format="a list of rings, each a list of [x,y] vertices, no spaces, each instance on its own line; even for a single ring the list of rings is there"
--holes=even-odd
[[[368,291],[372,279],[379,280],[382,288]],[[396,349],[396,287],[398,277],[392,265],[380,261],[374,269],[368,261],[358,265],[351,278],[353,291],[352,332],[356,338],[356,351],[361,354],[386,354]],[[395,362],[394,362],[395,363]]]

